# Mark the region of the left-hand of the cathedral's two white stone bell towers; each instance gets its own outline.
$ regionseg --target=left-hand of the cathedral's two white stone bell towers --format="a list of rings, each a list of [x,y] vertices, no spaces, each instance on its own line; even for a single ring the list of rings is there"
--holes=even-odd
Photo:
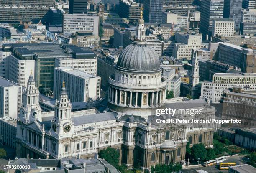
[[[27,87],[23,91],[22,107],[20,108],[19,118],[21,121],[29,123],[35,120],[42,121],[41,107],[39,106],[39,91],[36,88],[34,76],[31,74],[28,79]]]

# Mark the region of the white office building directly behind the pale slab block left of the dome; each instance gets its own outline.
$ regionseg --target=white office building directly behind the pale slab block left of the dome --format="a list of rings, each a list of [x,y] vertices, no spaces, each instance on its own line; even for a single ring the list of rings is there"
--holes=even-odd
[[[56,58],[55,67],[71,67],[79,71],[97,75],[97,57],[84,59]]]

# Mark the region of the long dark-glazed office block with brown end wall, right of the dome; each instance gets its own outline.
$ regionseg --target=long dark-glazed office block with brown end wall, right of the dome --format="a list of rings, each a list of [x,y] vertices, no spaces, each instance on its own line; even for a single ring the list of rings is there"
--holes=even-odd
[[[242,48],[230,43],[219,43],[218,60],[225,64],[241,68],[242,72],[255,73],[255,54],[252,49]]]

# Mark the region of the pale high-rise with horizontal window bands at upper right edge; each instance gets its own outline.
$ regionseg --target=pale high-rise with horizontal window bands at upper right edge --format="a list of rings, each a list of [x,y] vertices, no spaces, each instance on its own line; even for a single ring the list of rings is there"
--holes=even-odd
[[[256,33],[256,9],[246,9],[242,11],[241,25],[240,25],[241,34],[250,34],[254,35]]]

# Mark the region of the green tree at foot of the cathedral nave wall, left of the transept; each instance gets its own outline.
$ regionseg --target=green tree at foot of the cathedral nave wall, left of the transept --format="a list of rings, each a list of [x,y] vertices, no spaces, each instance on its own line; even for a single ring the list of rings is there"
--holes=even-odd
[[[108,163],[114,167],[118,167],[120,153],[118,153],[114,148],[108,147],[99,152],[100,158],[104,158]]]

